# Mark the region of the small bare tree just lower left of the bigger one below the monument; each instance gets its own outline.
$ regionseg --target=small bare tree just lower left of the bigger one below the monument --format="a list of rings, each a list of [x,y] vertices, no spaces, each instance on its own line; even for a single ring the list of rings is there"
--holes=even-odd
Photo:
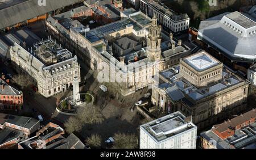
[[[66,132],[73,133],[74,131],[80,132],[82,130],[82,124],[77,117],[70,117],[66,123],[64,123]]]

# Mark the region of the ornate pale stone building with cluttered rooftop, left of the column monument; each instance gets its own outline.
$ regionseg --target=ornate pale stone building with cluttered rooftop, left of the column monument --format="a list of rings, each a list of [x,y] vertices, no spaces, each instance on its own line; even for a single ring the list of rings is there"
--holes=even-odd
[[[69,89],[74,77],[80,81],[77,57],[61,48],[51,37],[28,50],[15,43],[10,55],[14,68],[19,73],[30,75],[38,85],[38,92],[46,98]]]

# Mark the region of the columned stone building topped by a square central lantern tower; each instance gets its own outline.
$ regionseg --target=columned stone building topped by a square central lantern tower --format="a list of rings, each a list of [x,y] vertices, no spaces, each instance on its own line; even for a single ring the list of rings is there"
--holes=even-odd
[[[248,81],[222,68],[222,63],[205,51],[180,61],[176,66],[179,73],[171,69],[160,72],[163,83],[152,89],[155,106],[167,113],[192,115],[199,129],[245,110]]]

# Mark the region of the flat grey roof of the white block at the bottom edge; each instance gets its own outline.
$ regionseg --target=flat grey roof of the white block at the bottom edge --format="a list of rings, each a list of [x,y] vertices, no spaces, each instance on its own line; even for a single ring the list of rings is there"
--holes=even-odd
[[[150,123],[141,125],[156,141],[163,141],[169,137],[186,132],[190,129],[196,129],[196,125],[192,122],[186,122],[185,116],[179,111],[170,115],[161,117],[160,119],[151,121]]]

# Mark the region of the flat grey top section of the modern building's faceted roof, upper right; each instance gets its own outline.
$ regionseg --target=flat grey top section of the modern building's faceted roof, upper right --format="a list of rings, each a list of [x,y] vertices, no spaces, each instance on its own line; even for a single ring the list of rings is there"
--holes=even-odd
[[[253,20],[242,15],[240,12],[232,12],[226,15],[226,17],[228,17],[229,19],[233,20],[234,22],[236,22],[237,24],[246,29],[256,26],[256,23]]]

